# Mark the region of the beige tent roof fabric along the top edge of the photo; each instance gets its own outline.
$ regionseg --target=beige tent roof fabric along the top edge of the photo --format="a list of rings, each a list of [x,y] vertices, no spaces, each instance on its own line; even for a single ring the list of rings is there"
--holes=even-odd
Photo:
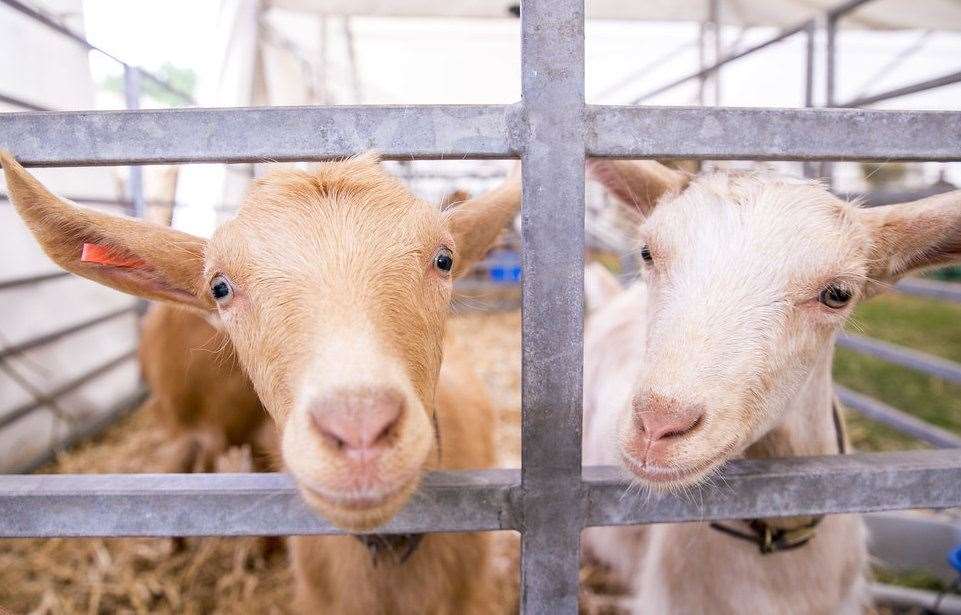
[[[745,26],[791,26],[823,14],[840,0],[723,0],[722,20]],[[376,17],[510,16],[517,0],[269,0],[278,8]],[[594,19],[704,21],[707,0],[588,0]],[[961,0],[874,0],[843,22],[845,27],[889,30],[961,30]]]

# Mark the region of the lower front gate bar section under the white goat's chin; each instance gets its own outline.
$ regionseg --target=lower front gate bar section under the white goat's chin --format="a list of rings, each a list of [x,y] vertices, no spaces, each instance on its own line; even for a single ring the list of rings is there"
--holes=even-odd
[[[743,459],[683,495],[626,492],[626,470],[584,468],[588,525],[753,519],[961,504],[961,449]]]

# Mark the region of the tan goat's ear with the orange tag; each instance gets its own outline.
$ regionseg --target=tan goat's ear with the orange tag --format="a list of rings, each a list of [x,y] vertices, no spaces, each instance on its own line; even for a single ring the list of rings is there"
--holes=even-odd
[[[10,200],[43,251],[62,268],[148,299],[212,309],[202,292],[206,242],[180,231],[61,199],[0,150]]]

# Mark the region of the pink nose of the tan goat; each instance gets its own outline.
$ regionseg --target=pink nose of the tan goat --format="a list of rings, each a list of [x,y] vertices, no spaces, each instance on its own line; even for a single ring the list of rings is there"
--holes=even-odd
[[[404,410],[404,398],[390,389],[336,391],[313,403],[310,424],[346,453],[387,448]]]

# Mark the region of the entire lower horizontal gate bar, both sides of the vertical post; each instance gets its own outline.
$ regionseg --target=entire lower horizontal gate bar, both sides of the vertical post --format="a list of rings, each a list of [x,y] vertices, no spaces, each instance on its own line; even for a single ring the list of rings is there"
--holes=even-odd
[[[583,472],[588,526],[961,505],[958,449],[736,460],[683,495],[638,493],[621,468]],[[433,472],[377,531],[522,529],[520,498],[519,470]],[[0,476],[0,537],[337,533],[284,474]]]

